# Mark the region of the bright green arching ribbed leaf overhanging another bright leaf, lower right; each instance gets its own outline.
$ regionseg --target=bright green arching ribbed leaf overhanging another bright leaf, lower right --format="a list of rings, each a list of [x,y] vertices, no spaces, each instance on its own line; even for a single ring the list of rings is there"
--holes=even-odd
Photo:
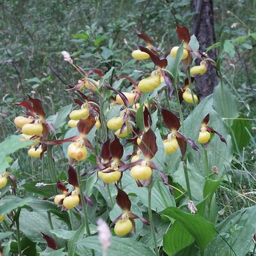
[[[175,207],[168,207],[160,214],[175,218],[195,239],[201,251],[204,251],[207,245],[212,241],[216,234],[214,225],[199,215],[185,213],[183,210]]]

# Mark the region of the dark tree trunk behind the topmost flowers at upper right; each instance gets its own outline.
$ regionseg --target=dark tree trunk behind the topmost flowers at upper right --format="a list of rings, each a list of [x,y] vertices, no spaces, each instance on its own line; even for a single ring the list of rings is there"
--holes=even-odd
[[[191,0],[192,11],[199,12],[194,17],[195,23],[192,34],[195,34],[200,43],[200,50],[205,51],[209,46],[216,42],[214,35],[214,19],[213,19],[213,0]],[[208,53],[210,59],[216,60],[215,49]],[[196,61],[199,65],[200,61]],[[217,72],[214,67],[210,67],[203,76],[196,79],[196,91],[201,98],[204,98],[213,92],[214,86],[217,85]]]

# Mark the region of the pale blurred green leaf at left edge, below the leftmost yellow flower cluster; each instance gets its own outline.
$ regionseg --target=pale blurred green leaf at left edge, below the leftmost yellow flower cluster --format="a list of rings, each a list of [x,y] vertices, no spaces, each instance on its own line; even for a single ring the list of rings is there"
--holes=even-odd
[[[22,135],[11,135],[0,143],[0,174],[10,167],[10,162],[12,161],[9,157],[10,154],[13,154],[20,148],[28,147],[32,143],[31,141],[20,142],[20,139],[22,139]]]

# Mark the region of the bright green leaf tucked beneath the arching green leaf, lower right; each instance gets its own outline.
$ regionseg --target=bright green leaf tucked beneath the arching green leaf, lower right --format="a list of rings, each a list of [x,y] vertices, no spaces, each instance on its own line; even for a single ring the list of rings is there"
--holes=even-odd
[[[172,227],[163,236],[163,250],[173,255],[181,249],[191,245],[195,239],[180,222],[175,221]]]

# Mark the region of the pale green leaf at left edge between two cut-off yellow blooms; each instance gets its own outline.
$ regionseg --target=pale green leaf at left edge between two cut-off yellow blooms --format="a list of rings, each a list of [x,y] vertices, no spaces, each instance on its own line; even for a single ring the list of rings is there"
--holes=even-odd
[[[10,213],[11,210],[14,210],[18,207],[25,207],[29,205],[32,200],[32,197],[20,199],[16,196],[5,196],[0,200],[0,215]]]

